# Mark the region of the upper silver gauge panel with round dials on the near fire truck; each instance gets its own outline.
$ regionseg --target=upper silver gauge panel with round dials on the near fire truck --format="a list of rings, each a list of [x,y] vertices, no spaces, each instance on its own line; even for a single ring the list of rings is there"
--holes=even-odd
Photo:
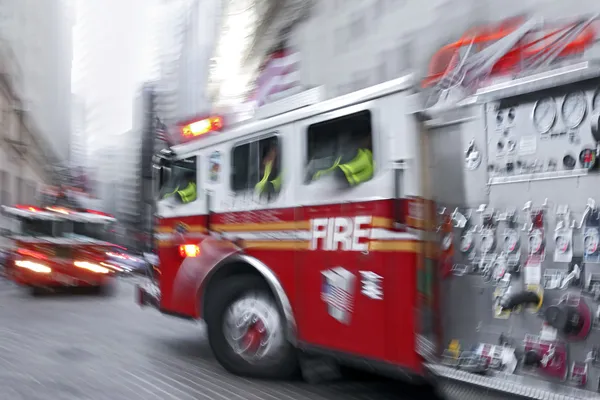
[[[490,176],[592,168],[598,90],[584,83],[487,104]]]

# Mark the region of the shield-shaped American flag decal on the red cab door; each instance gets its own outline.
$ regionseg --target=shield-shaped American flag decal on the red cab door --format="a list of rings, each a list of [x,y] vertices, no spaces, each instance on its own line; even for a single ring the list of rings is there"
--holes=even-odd
[[[323,287],[321,300],[327,305],[329,315],[341,323],[349,324],[354,306],[356,277],[342,267],[321,272]]]

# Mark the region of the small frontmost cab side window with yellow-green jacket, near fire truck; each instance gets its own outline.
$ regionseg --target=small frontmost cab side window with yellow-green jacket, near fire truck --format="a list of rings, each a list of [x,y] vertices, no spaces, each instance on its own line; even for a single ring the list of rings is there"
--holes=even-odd
[[[160,199],[176,204],[190,204],[198,200],[197,165],[197,157],[192,156],[164,166]]]

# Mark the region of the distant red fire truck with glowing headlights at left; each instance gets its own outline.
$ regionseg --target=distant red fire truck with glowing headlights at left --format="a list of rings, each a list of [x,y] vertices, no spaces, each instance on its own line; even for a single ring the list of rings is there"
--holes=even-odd
[[[33,294],[59,287],[110,290],[118,266],[108,262],[112,244],[100,240],[115,222],[108,214],[66,207],[3,206],[15,229],[6,276]]]

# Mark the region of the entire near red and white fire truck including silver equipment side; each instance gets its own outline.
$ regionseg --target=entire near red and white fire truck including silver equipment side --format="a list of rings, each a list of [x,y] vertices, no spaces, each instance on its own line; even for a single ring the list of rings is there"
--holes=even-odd
[[[140,302],[203,319],[237,374],[321,356],[597,398],[597,21],[469,29],[419,93],[407,76],[183,124],[190,140],[156,159]]]

